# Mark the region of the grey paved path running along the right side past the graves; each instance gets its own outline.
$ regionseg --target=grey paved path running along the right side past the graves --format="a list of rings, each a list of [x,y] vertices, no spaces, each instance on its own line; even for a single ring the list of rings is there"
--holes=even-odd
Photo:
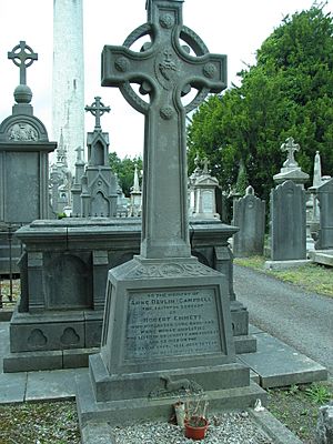
[[[333,376],[333,299],[238,265],[234,291],[253,325],[326,366]]]

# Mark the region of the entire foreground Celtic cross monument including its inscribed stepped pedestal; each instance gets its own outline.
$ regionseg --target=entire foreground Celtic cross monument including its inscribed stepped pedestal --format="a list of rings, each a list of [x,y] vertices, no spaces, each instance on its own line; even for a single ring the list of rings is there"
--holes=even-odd
[[[101,351],[90,356],[90,381],[78,382],[82,427],[169,415],[181,389],[205,391],[213,407],[260,396],[235,360],[225,276],[191,256],[189,241],[185,113],[225,88],[226,60],[183,26],[182,1],[147,7],[148,23],[102,53],[102,84],[145,115],[142,239],[140,255],[109,272]],[[151,42],[130,50],[144,36]],[[198,94],[183,107],[191,87]]]

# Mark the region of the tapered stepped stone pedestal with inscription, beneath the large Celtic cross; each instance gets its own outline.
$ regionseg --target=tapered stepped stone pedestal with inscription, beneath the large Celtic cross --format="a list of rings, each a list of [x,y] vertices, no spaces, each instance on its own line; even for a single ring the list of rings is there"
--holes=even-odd
[[[110,270],[101,352],[88,390],[79,381],[81,427],[167,415],[172,400],[199,393],[212,407],[253,404],[261,390],[235,361],[226,294],[223,275],[194,258]]]

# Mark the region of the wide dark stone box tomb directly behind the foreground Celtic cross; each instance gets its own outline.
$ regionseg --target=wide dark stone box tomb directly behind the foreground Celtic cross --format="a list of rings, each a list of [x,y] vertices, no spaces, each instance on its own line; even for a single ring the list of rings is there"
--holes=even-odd
[[[6,357],[8,369],[23,370],[26,365],[29,370],[41,370],[48,350],[62,353],[63,361],[57,361],[60,367],[71,365],[65,364],[65,360],[82,365],[87,362],[87,352],[83,351],[100,345],[108,271],[139,253],[140,230],[141,220],[135,218],[68,218],[36,221],[18,232],[26,252],[20,261],[21,301],[10,325],[11,346],[17,352]],[[192,221],[191,252],[200,262],[226,276],[233,335],[238,337],[235,347],[245,353],[255,351],[255,340],[248,336],[249,313],[235,300],[233,291],[232,253],[228,239],[235,231],[235,228],[219,221]],[[60,337],[65,329],[73,329],[80,341],[62,344]],[[47,343],[28,344],[27,339],[33,331],[34,336],[39,331],[40,339],[47,337]],[[68,359],[70,350],[73,356]],[[79,350],[77,354],[75,350]],[[20,353],[24,354],[24,361],[19,360]],[[39,353],[42,359],[38,357]],[[52,360],[51,353],[50,365],[54,369]]]

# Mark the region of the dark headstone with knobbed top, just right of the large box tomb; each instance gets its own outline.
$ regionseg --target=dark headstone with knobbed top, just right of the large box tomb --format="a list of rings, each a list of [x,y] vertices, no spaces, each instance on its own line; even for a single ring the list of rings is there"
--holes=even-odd
[[[238,258],[263,255],[265,235],[265,201],[248,186],[244,198],[233,204],[233,223],[240,231],[233,236],[233,254]]]

